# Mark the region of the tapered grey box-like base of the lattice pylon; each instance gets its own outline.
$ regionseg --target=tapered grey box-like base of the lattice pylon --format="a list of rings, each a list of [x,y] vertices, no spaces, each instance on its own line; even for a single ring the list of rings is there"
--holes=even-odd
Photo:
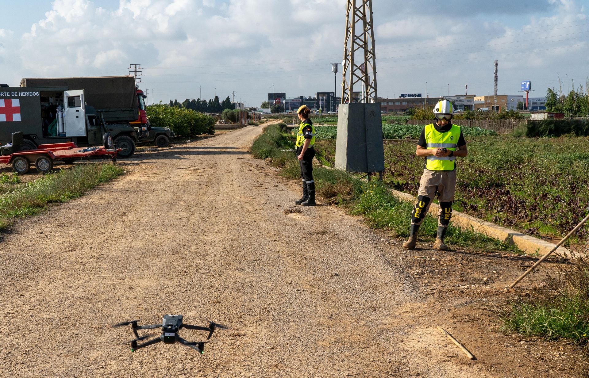
[[[339,106],[335,167],[350,172],[382,172],[382,117],[378,102],[353,102]]]

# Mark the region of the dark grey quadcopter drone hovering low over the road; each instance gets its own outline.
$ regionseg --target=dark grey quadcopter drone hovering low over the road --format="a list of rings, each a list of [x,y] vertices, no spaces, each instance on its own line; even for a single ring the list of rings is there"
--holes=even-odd
[[[190,329],[190,330],[200,330],[200,331],[209,331],[209,336],[207,336],[207,340],[213,336],[213,332],[215,328],[225,328],[221,326],[221,324],[213,323],[213,321],[209,321],[209,327],[200,327],[200,326],[191,326],[190,324],[182,323],[182,316],[181,315],[164,315],[164,319],[161,324],[149,324],[148,326],[140,326],[137,324],[138,320],[131,320],[131,321],[124,321],[123,323],[115,324],[115,327],[118,326],[127,326],[131,324],[133,327],[133,333],[137,339],[131,340],[131,352],[135,352],[135,350],[150,346],[151,344],[159,343],[163,341],[165,344],[174,344],[176,341],[178,343],[184,344],[187,347],[192,349],[198,350],[201,354],[204,353],[204,344],[205,341],[200,342],[192,342],[184,340],[180,335],[178,335],[178,331],[182,328]],[[161,335],[156,337],[155,339],[151,339],[149,341],[145,341],[145,343],[137,344],[137,341],[141,341],[147,339],[150,335],[147,336],[139,336],[137,330],[148,330],[161,327]]]

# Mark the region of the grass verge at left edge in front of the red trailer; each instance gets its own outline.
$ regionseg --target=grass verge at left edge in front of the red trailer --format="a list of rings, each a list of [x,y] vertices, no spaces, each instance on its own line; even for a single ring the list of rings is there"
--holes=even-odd
[[[15,184],[0,195],[0,228],[14,218],[37,214],[47,204],[77,198],[98,184],[123,173],[112,164],[80,164],[71,170],[48,174],[27,184]]]

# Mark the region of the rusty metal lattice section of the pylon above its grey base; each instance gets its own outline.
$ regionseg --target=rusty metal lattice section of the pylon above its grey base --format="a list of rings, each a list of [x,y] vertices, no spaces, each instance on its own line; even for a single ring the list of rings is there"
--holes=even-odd
[[[356,4],[360,4],[356,6]],[[376,102],[376,57],[372,0],[348,0],[343,42],[342,104],[356,102],[354,87],[363,84],[357,102]],[[372,75],[372,77],[370,77]]]

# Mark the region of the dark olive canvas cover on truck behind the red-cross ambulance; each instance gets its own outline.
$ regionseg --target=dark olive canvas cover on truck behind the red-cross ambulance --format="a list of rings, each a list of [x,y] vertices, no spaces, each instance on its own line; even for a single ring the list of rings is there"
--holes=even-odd
[[[107,122],[137,120],[139,107],[133,76],[105,76],[78,78],[24,78],[21,87],[65,87],[84,89],[85,101],[96,110],[104,110]]]

